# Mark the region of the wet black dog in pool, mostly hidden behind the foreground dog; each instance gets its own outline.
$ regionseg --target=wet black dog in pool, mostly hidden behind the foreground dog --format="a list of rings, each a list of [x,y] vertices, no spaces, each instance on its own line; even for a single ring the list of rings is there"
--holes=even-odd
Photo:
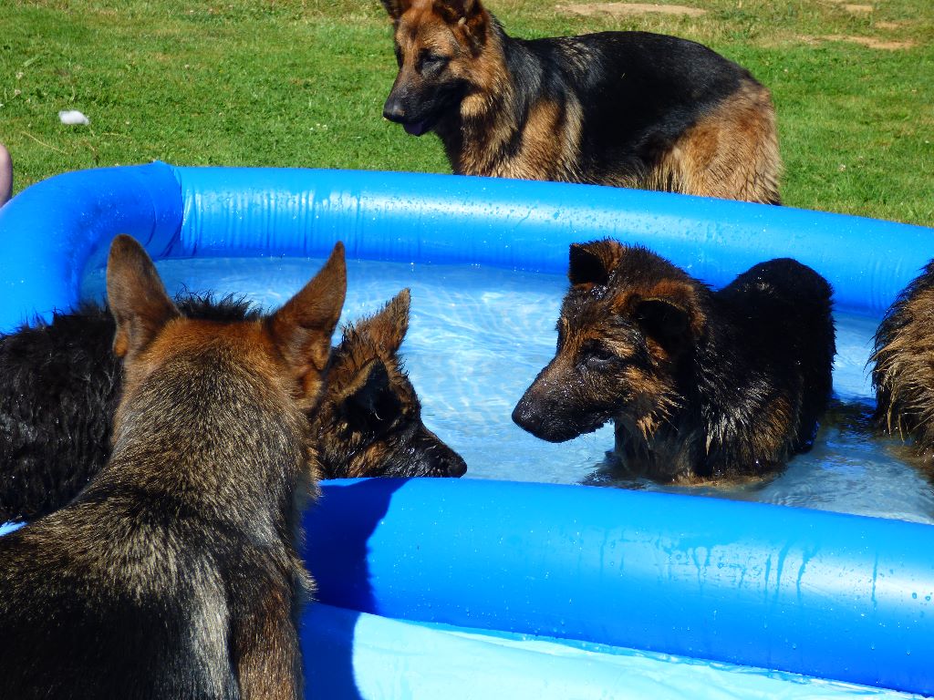
[[[176,302],[189,318],[262,318],[233,298]],[[404,290],[379,314],[347,326],[333,350],[320,407],[309,416],[326,479],[457,477],[467,470],[421,421],[399,356],[408,312]],[[120,396],[114,331],[106,308],[86,304],[0,338],[0,523],[58,510],[106,464]]]

